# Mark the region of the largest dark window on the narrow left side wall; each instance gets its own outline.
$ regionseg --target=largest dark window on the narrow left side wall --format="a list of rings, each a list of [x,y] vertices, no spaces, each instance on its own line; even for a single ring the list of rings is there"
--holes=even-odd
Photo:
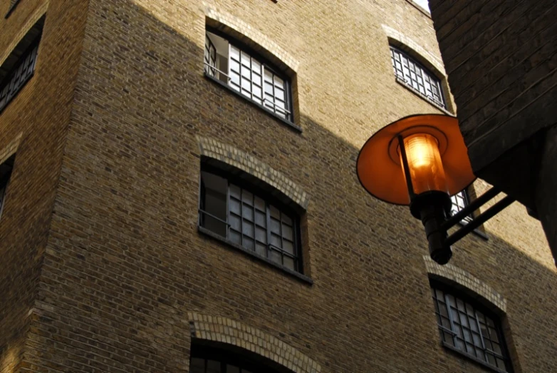
[[[41,40],[44,17],[28,31],[24,39],[0,66],[0,112],[33,76]]]

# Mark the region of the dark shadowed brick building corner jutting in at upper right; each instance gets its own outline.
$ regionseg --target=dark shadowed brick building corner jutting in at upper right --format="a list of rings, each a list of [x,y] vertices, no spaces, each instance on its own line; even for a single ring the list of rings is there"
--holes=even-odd
[[[557,6],[430,0],[474,173],[540,219],[557,257]]]

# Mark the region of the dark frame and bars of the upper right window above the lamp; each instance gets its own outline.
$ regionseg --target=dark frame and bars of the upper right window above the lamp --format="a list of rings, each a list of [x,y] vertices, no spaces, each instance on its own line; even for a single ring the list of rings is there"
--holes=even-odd
[[[448,112],[449,108],[447,107],[447,98],[445,97],[445,93],[444,93],[444,89],[443,89],[443,78],[439,78],[439,75],[437,73],[432,71],[431,68],[427,68],[426,66],[424,66],[424,64],[421,63],[418,60],[418,58],[413,56],[412,53],[409,53],[408,51],[405,51],[404,48],[401,48],[400,46],[395,46],[392,43],[389,43],[389,51],[390,51],[390,58],[391,58],[391,66],[394,70],[393,72],[395,73],[395,78],[397,79],[397,81],[400,81],[400,83],[402,83],[405,86],[407,86],[408,88],[412,89],[412,91],[416,92],[418,95],[420,95],[420,97],[425,98],[425,100],[427,100],[427,102],[432,103],[437,108],[440,108],[443,111]],[[437,83],[437,88],[439,90],[440,101],[437,101],[434,97],[427,96],[426,93],[422,93],[420,91],[420,89],[415,88],[412,85],[412,82],[408,82],[407,77],[404,74],[404,68],[402,68],[402,75],[398,72],[398,69],[397,69],[397,67],[395,65],[395,62],[394,62],[395,61],[395,56],[394,56],[393,51],[396,52],[396,53],[399,53],[402,58],[407,58],[407,60],[409,61],[409,71],[410,71],[410,63],[414,63],[414,65],[417,68],[420,68],[421,78],[422,78],[422,81],[424,82],[424,85],[423,85],[424,86],[424,91],[427,91],[425,89],[425,77],[429,78],[430,86],[432,86],[432,81]],[[402,61],[401,61],[401,63],[402,63]],[[434,96],[434,95],[432,95],[432,96]]]

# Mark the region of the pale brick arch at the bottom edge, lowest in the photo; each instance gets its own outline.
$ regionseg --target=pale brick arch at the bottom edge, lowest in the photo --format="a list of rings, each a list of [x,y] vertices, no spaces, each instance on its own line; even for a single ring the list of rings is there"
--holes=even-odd
[[[296,373],[318,373],[321,365],[271,334],[227,317],[188,312],[192,338],[241,347],[271,359]]]

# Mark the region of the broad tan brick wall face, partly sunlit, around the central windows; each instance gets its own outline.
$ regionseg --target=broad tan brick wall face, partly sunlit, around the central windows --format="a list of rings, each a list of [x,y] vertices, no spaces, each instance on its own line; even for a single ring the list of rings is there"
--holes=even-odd
[[[439,60],[427,15],[402,0],[90,0],[86,14],[29,370],[188,372],[192,323],[207,339],[225,323],[274,341],[274,361],[296,372],[485,371],[439,344],[421,223],[370,198],[354,171],[378,128],[440,112],[395,81],[385,33]],[[291,56],[301,132],[204,77],[214,14],[251,30],[247,43],[269,41],[269,58]],[[299,195],[313,285],[198,232],[200,138]],[[486,231],[456,245],[454,273],[506,300],[516,370],[549,371],[557,307],[544,301],[555,273],[541,230],[512,205]]]

